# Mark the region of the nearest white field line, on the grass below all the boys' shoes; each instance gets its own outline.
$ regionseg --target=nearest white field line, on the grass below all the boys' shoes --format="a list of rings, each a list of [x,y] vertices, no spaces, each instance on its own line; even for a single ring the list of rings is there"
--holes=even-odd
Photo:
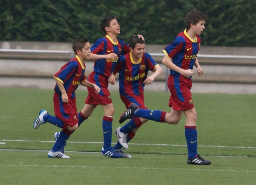
[[[256,171],[240,170],[206,170],[206,169],[178,169],[178,168],[147,168],[147,167],[89,167],[89,166],[58,166],[58,165],[1,165],[8,167],[47,167],[47,168],[88,168],[88,169],[133,169],[133,170],[169,170],[169,171],[209,171],[209,172],[237,172],[237,173],[256,173]]]

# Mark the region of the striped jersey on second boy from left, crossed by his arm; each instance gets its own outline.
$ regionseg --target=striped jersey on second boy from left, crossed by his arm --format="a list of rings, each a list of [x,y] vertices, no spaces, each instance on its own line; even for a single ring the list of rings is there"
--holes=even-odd
[[[116,53],[118,57],[129,52],[129,46],[122,40],[118,40],[114,43],[112,39],[106,35],[103,38],[99,38],[91,47],[93,54],[108,55],[110,53]],[[113,73],[117,61],[112,59],[100,59],[94,62],[94,72],[110,77]]]

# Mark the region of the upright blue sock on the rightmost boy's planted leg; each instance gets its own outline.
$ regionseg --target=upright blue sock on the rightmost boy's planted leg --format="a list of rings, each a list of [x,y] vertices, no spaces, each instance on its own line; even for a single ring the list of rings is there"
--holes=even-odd
[[[187,140],[188,158],[193,159],[197,155],[196,126],[185,126],[185,137]]]

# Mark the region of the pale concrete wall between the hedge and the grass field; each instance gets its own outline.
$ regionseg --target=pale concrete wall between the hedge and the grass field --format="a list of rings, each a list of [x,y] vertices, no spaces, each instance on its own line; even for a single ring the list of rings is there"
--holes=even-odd
[[[92,45],[92,43],[91,43]],[[165,45],[146,45],[146,52],[161,53]],[[46,50],[64,53],[23,53],[3,50]],[[0,41],[0,87],[52,89],[52,76],[72,56],[72,43]],[[204,47],[200,55],[256,56],[256,48]],[[168,70],[160,64],[162,56],[153,56],[163,68],[163,73],[145,91],[166,91]],[[256,59],[229,59],[198,57],[204,75],[193,76],[192,92],[202,93],[256,93]],[[93,61],[86,61],[86,76],[93,71]],[[116,76],[118,77],[118,76]],[[118,90],[116,85],[109,87]],[[83,87],[82,87],[83,89]]]

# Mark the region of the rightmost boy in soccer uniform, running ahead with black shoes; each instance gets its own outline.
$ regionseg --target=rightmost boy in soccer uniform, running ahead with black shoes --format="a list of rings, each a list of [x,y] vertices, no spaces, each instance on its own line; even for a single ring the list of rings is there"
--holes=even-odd
[[[202,11],[193,10],[189,12],[185,17],[186,29],[177,35],[172,44],[163,49],[165,56],[162,64],[170,69],[167,86],[171,92],[169,99],[171,112],[138,109],[135,104],[132,104],[120,118],[120,123],[131,116],[138,116],[159,122],[177,124],[184,113],[186,116],[185,137],[188,148],[187,164],[193,165],[211,164],[210,161],[204,160],[197,153],[197,114],[190,92],[193,66],[195,65],[199,76],[203,75],[203,69],[199,65],[197,54],[201,44],[199,35],[205,29],[206,20],[207,15]],[[124,143],[126,144],[126,142]],[[125,144],[124,146],[126,146]]]

